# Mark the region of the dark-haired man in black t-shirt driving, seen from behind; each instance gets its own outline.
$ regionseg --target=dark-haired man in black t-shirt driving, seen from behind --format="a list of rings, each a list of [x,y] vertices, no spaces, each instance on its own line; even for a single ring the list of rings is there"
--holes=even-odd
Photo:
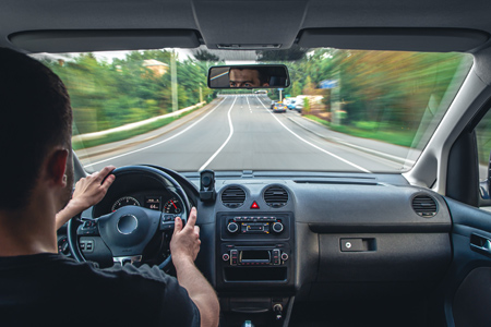
[[[176,218],[170,251],[177,279],[156,266],[99,269],[57,253],[57,228],[100,201],[113,181],[113,167],[80,182],[69,203],[73,164],[67,89],[25,55],[0,48],[0,59],[1,325],[217,326],[217,296],[194,265],[201,244],[195,208],[184,227]]]

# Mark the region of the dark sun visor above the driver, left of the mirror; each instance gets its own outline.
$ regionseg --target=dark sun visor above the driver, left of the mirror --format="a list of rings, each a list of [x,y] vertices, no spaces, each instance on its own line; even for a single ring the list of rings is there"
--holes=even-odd
[[[17,48],[31,52],[85,52],[196,48],[193,29],[29,31],[9,36]]]

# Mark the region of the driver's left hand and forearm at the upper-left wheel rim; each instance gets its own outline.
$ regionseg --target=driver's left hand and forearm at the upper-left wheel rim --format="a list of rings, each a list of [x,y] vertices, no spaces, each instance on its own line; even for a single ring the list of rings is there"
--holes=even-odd
[[[73,192],[72,199],[67,206],[57,214],[56,228],[62,227],[72,217],[82,213],[83,210],[98,204],[106,195],[107,190],[115,181],[115,175],[108,175],[116,167],[107,166],[98,172],[80,179],[75,184],[75,192]],[[107,177],[107,178],[106,178]],[[104,180],[106,178],[106,180]],[[104,180],[104,183],[103,183]]]

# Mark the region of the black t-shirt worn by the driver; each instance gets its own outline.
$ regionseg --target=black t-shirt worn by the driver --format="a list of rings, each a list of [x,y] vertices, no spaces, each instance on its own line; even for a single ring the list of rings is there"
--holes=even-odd
[[[200,326],[200,312],[158,267],[43,253],[0,257],[0,326]]]

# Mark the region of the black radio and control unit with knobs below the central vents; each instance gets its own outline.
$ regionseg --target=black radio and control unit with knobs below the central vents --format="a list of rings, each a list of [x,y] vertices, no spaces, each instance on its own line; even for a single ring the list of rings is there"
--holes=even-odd
[[[216,218],[217,288],[294,287],[291,213],[227,211]]]

